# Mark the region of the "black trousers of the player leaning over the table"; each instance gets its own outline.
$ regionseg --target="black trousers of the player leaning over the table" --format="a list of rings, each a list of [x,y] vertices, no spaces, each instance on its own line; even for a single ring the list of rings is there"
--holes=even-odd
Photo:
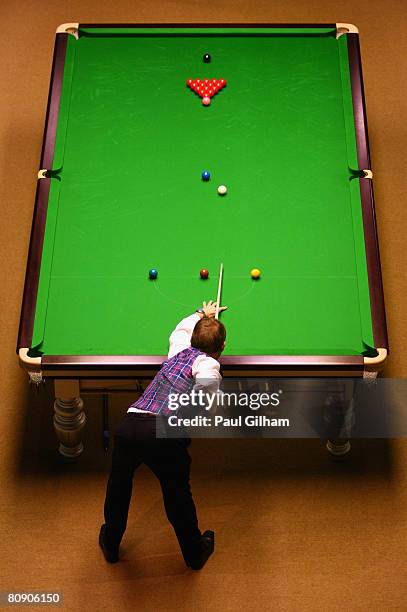
[[[126,530],[134,471],[144,463],[161,484],[165,511],[188,563],[201,554],[201,532],[189,484],[188,438],[156,438],[156,416],[129,412],[114,436],[105,499],[106,538],[120,543]]]

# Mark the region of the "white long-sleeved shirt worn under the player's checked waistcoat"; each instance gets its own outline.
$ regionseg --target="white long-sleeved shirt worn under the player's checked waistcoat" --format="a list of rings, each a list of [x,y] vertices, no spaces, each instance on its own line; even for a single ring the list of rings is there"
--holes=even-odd
[[[170,336],[170,348],[168,359],[177,355],[181,351],[191,346],[192,332],[195,325],[201,319],[196,312],[185,319],[182,319]],[[192,364],[192,376],[194,378],[194,390],[202,389],[208,393],[216,393],[219,390],[220,375],[219,361],[209,355],[198,355]],[[129,408],[128,412],[147,412],[138,408]]]

